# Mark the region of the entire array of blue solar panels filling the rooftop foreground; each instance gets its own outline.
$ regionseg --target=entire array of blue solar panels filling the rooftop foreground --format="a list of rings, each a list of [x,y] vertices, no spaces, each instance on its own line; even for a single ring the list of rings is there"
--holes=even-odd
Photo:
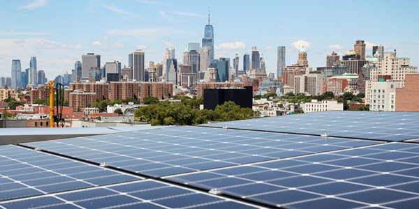
[[[0,146],[0,208],[414,208],[417,116],[329,111]],[[25,181],[38,193],[12,187]]]

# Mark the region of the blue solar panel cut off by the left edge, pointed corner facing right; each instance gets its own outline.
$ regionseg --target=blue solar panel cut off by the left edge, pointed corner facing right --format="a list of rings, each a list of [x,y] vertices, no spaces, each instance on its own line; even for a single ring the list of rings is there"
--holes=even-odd
[[[142,179],[110,169],[0,146],[0,201]]]

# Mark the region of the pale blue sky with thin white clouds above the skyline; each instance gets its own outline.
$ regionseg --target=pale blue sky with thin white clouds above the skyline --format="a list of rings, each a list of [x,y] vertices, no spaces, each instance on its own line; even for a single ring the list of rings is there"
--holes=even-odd
[[[160,63],[174,46],[201,42],[208,8],[214,26],[215,56],[251,54],[257,46],[267,72],[277,70],[277,46],[286,46],[286,64],[297,62],[302,45],[311,67],[327,54],[345,54],[355,40],[397,49],[397,56],[419,63],[419,1],[152,1],[0,0],[0,76],[10,77],[12,59],[22,70],[36,56],[48,79],[71,72],[82,54],[101,54],[101,63],[128,64],[128,54],[145,51]]]

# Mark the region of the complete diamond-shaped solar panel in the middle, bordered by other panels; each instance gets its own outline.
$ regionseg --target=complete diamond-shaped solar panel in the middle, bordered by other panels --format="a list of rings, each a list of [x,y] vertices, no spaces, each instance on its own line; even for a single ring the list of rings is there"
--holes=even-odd
[[[24,145],[159,177],[377,143],[191,126]]]

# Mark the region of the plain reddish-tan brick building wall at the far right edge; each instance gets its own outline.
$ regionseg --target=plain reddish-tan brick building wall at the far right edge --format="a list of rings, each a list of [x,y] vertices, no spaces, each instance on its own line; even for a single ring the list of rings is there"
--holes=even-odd
[[[419,111],[419,74],[407,74],[404,88],[396,88],[396,111]]]

